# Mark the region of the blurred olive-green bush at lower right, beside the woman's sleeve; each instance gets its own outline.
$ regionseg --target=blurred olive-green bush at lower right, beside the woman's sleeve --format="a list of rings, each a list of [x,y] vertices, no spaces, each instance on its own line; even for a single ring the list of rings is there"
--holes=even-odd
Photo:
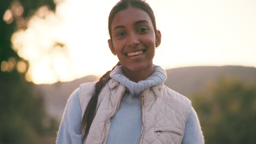
[[[256,83],[221,78],[193,95],[206,143],[255,143]]]

